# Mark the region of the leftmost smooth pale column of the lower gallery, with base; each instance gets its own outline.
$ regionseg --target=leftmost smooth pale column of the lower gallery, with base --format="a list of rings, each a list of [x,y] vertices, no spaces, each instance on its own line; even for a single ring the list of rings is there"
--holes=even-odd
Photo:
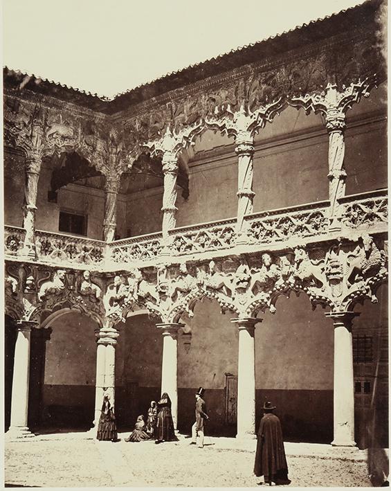
[[[28,429],[28,383],[30,380],[31,328],[36,323],[17,323],[14,371],[12,377],[11,422],[7,436],[25,438],[34,436]]]

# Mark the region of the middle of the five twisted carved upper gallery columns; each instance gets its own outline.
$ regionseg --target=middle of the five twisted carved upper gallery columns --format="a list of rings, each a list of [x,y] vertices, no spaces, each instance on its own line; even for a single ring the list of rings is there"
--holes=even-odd
[[[176,177],[178,176],[178,160],[173,152],[163,152],[163,175],[164,175],[164,192],[163,192],[163,224],[162,234],[163,243],[167,248],[168,232],[175,228],[175,213],[178,208],[175,206],[176,195]]]

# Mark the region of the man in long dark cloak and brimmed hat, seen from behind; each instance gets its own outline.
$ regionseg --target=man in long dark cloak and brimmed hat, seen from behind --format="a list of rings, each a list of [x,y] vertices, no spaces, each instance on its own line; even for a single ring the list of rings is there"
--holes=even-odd
[[[271,402],[264,403],[264,416],[257,434],[257,452],[255,454],[254,474],[264,476],[265,483],[289,484],[288,464],[285,457],[284,441],[280,420],[273,410]]]

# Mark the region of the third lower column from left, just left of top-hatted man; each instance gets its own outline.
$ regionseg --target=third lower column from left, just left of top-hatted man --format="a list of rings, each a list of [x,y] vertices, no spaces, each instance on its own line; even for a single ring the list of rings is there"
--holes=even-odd
[[[174,430],[178,428],[178,330],[184,324],[156,324],[163,334],[163,359],[161,365],[161,393],[171,399]]]

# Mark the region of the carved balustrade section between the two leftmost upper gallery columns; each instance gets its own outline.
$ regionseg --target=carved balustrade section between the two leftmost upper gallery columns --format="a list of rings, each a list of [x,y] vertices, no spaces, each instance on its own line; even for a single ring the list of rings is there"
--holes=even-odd
[[[102,240],[36,231],[37,259],[57,266],[102,267],[107,247]]]

